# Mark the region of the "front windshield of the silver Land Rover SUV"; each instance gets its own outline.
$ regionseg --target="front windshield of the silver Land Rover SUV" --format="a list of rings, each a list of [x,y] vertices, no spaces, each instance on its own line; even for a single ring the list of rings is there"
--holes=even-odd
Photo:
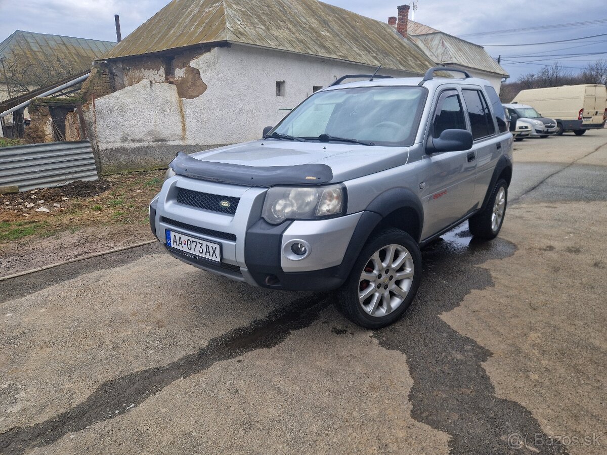
[[[378,146],[410,146],[426,90],[359,87],[317,92],[292,110],[273,132],[307,140],[339,138]],[[327,137],[328,136],[328,137]]]

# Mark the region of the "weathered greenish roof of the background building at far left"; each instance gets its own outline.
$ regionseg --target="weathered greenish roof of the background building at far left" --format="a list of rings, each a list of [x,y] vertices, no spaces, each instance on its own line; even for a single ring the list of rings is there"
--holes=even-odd
[[[90,64],[116,43],[96,39],[70,38],[17,30],[0,42],[0,57],[7,73],[21,72],[27,84],[37,85],[43,75],[57,70],[58,79],[90,69]],[[8,75],[8,78],[11,78]],[[0,72],[4,81],[4,73]],[[47,83],[47,81],[42,81]]]

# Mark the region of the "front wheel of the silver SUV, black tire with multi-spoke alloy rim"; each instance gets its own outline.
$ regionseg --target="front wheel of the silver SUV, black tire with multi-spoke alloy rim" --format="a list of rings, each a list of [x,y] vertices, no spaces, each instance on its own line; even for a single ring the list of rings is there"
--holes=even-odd
[[[391,249],[392,264],[387,260]],[[396,272],[392,268],[394,264]],[[398,279],[397,274],[402,278]],[[345,317],[361,327],[385,327],[398,320],[409,308],[420,281],[421,251],[418,243],[400,229],[384,229],[362,248],[350,276],[337,293],[336,306]],[[366,296],[363,291],[367,291]]]

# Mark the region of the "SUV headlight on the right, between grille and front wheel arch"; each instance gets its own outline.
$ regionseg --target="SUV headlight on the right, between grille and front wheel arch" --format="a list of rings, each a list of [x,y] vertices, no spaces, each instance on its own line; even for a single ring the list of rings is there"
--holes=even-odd
[[[273,187],[266,193],[262,217],[271,224],[285,220],[316,220],[345,212],[342,185]]]

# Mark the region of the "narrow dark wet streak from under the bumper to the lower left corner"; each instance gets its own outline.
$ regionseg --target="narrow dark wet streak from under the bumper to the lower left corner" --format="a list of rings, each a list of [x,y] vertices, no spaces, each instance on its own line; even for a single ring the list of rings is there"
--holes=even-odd
[[[298,298],[280,311],[209,340],[204,348],[157,368],[144,369],[104,382],[80,405],[23,428],[0,434],[2,455],[22,454],[33,447],[52,444],[67,433],[84,430],[102,420],[130,411],[178,379],[185,379],[222,360],[282,343],[292,331],[309,326],[327,307],[328,294]]]

